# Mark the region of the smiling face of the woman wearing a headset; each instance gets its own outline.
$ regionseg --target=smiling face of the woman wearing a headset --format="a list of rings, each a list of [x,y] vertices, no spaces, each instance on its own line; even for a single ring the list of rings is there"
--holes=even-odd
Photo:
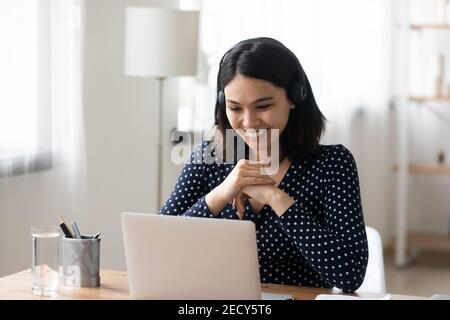
[[[253,151],[257,151],[258,141],[267,141],[270,146],[270,129],[278,129],[281,135],[286,128],[293,103],[283,88],[236,74],[224,92],[228,121]]]

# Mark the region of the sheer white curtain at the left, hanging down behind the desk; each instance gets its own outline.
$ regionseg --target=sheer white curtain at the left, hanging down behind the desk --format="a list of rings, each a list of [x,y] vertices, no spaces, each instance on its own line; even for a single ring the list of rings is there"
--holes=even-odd
[[[84,227],[83,15],[83,0],[0,1],[0,275],[29,268],[31,226]]]

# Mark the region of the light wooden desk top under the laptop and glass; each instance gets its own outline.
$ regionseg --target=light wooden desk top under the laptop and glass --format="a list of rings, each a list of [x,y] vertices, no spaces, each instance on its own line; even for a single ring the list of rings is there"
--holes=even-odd
[[[40,297],[31,293],[30,269],[0,278],[0,299],[10,300],[126,300],[129,299],[128,275],[124,271],[101,270],[101,286],[97,288],[71,288],[60,286],[58,296],[54,298]],[[296,300],[314,300],[322,293],[336,293],[332,289],[262,284],[263,292],[284,293],[292,295]],[[358,296],[377,298],[374,293],[358,293]],[[392,295],[394,300],[421,300],[425,297]]]

